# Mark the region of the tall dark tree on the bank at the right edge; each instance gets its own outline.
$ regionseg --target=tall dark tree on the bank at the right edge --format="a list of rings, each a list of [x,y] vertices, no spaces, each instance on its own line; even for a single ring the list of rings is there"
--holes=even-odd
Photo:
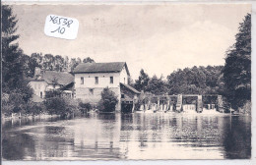
[[[235,43],[226,51],[224,64],[226,98],[232,108],[251,100],[251,15],[247,14]]]

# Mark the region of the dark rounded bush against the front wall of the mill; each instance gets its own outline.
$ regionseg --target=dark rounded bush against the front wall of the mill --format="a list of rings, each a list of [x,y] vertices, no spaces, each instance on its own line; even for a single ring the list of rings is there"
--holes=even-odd
[[[113,112],[118,103],[117,96],[108,87],[103,88],[101,99],[98,102],[98,109],[101,112]]]

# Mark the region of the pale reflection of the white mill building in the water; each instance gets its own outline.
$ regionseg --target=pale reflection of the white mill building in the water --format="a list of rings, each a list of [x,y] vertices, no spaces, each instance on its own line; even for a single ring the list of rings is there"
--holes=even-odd
[[[95,158],[118,158],[120,116],[98,115],[81,119],[75,128],[74,145],[79,156]]]

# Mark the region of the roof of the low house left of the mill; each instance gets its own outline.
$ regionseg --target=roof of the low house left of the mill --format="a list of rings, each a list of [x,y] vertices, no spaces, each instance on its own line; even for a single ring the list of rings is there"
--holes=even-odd
[[[32,81],[44,81],[49,84],[56,81],[57,84],[67,85],[69,83],[74,83],[74,76],[64,72],[45,71],[41,77],[33,78]]]

